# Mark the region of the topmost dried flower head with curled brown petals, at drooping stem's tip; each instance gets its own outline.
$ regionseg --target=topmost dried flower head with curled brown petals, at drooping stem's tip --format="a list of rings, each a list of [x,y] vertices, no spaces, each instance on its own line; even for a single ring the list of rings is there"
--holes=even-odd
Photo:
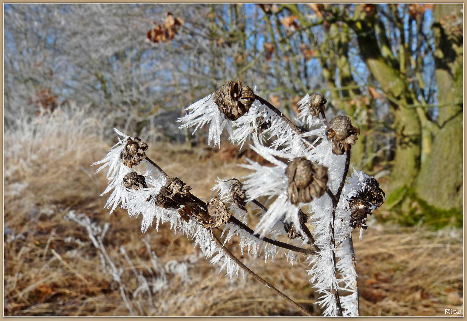
[[[255,94],[241,81],[227,81],[214,93],[214,103],[224,113],[226,119],[236,120],[250,109],[255,101]]]

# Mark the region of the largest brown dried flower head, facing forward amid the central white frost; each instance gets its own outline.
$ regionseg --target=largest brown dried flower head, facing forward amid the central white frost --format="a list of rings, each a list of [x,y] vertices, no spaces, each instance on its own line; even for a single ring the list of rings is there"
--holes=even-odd
[[[327,167],[297,157],[285,169],[289,178],[287,195],[289,201],[297,205],[299,202],[311,202],[313,198],[321,197],[326,191]]]

